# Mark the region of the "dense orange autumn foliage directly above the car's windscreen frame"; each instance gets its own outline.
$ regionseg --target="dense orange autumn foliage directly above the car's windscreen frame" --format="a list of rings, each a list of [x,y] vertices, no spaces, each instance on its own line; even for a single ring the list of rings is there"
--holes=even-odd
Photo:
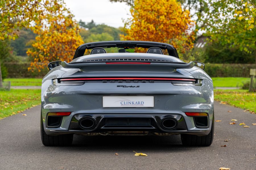
[[[130,11],[122,40],[165,42],[180,52],[192,48],[194,33],[189,29],[195,24],[176,0],[135,0]]]

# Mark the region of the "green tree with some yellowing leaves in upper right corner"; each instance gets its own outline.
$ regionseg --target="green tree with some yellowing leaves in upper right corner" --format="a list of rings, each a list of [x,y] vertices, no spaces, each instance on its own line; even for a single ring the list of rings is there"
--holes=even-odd
[[[223,46],[238,46],[241,51],[254,53],[256,63],[256,2],[254,0],[210,0],[207,24],[203,28],[211,41]],[[205,19],[203,18],[202,21]]]

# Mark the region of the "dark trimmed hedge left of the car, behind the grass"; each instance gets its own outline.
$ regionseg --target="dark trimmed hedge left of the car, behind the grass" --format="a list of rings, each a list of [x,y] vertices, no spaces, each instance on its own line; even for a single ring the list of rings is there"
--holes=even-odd
[[[38,71],[28,71],[30,63],[3,63],[7,69],[8,78],[42,78],[48,73],[48,68]]]

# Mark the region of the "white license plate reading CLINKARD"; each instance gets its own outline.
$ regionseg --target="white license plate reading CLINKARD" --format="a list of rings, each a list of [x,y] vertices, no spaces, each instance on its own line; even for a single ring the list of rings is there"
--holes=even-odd
[[[154,96],[103,96],[103,107],[154,107]]]

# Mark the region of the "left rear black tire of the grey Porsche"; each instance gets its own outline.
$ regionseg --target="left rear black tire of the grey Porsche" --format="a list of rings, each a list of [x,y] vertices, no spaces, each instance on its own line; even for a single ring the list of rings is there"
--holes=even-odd
[[[41,113],[41,140],[45,146],[70,146],[73,142],[73,134],[64,134],[58,136],[47,135],[44,131],[43,119]]]

